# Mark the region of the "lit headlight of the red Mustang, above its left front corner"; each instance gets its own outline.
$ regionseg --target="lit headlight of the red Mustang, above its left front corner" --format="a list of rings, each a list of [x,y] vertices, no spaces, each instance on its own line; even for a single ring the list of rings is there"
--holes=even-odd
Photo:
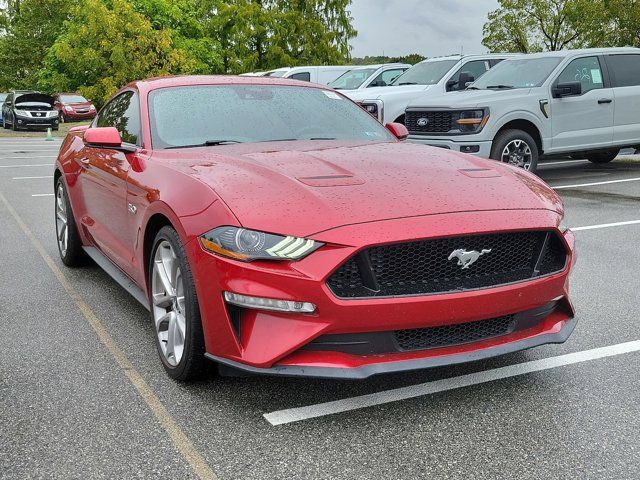
[[[300,260],[323,243],[298,237],[284,237],[246,228],[218,227],[199,237],[205,250],[225,257],[253,260]]]

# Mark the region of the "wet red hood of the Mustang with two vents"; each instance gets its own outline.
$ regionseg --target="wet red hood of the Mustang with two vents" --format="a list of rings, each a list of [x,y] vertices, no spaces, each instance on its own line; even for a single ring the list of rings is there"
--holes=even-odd
[[[163,150],[247,227],[295,236],[379,220],[548,209],[559,197],[521,169],[411,143],[273,142]]]

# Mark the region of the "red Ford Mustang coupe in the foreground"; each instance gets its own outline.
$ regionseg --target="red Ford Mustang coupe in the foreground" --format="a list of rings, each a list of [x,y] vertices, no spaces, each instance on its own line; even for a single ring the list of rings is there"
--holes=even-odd
[[[180,380],[205,358],[364,378],[564,342],[560,198],[406,135],[294,80],[131,83],[62,145],[62,261],[88,254],[150,309]]]

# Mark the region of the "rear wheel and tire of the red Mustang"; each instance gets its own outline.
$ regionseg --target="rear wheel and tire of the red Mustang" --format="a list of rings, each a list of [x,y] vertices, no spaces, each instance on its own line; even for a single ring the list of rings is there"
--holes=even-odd
[[[56,182],[55,199],[56,240],[60,259],[67,267],[80,267],[86,263],[86,257],[62,177]]]

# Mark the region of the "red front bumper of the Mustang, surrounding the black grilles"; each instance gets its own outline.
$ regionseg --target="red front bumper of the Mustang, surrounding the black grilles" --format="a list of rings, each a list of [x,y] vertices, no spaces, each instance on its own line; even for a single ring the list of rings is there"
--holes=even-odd
[[[564,342],[575,326],[568,276],[573,234],[565,235],[570,258],[562,272],[482,290],[413,297],[339,299],[326,285],[332,271],[364,246],[411,238],[460,236],[522,229],[550,229],[558,215],[547,210],[465,212],[338,228],[313,236],[327,243],[293,263],[242,263],[204,252],[189,243],[200,302],[207,356],[254,373],[365,378],[478,360]],[[484,231],[478,232],[477,225]],[[230,309],[222,292],[312,302],[314,314]],[[555,303],[554,303],[555,302]],[[363,334],[457,325],[539,309],[555,308],[530,327],[473,343],[391,353],[351,354],[308,349],[325,335]]]

